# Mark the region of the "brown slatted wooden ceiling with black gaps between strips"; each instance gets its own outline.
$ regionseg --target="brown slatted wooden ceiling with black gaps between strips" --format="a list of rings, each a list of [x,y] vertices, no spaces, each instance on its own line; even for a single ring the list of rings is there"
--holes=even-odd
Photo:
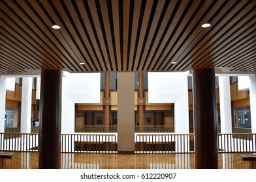
[[[255,8],[255,0],[0,0],[0,74],[255,73]],[[206,22],[212,27],[202,29]]]

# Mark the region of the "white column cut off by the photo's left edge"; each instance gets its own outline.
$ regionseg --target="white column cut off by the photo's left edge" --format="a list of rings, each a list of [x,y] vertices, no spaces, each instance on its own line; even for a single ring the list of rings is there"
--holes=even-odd
[[[6,78],[0,76],[0,133],[5,132]]]

